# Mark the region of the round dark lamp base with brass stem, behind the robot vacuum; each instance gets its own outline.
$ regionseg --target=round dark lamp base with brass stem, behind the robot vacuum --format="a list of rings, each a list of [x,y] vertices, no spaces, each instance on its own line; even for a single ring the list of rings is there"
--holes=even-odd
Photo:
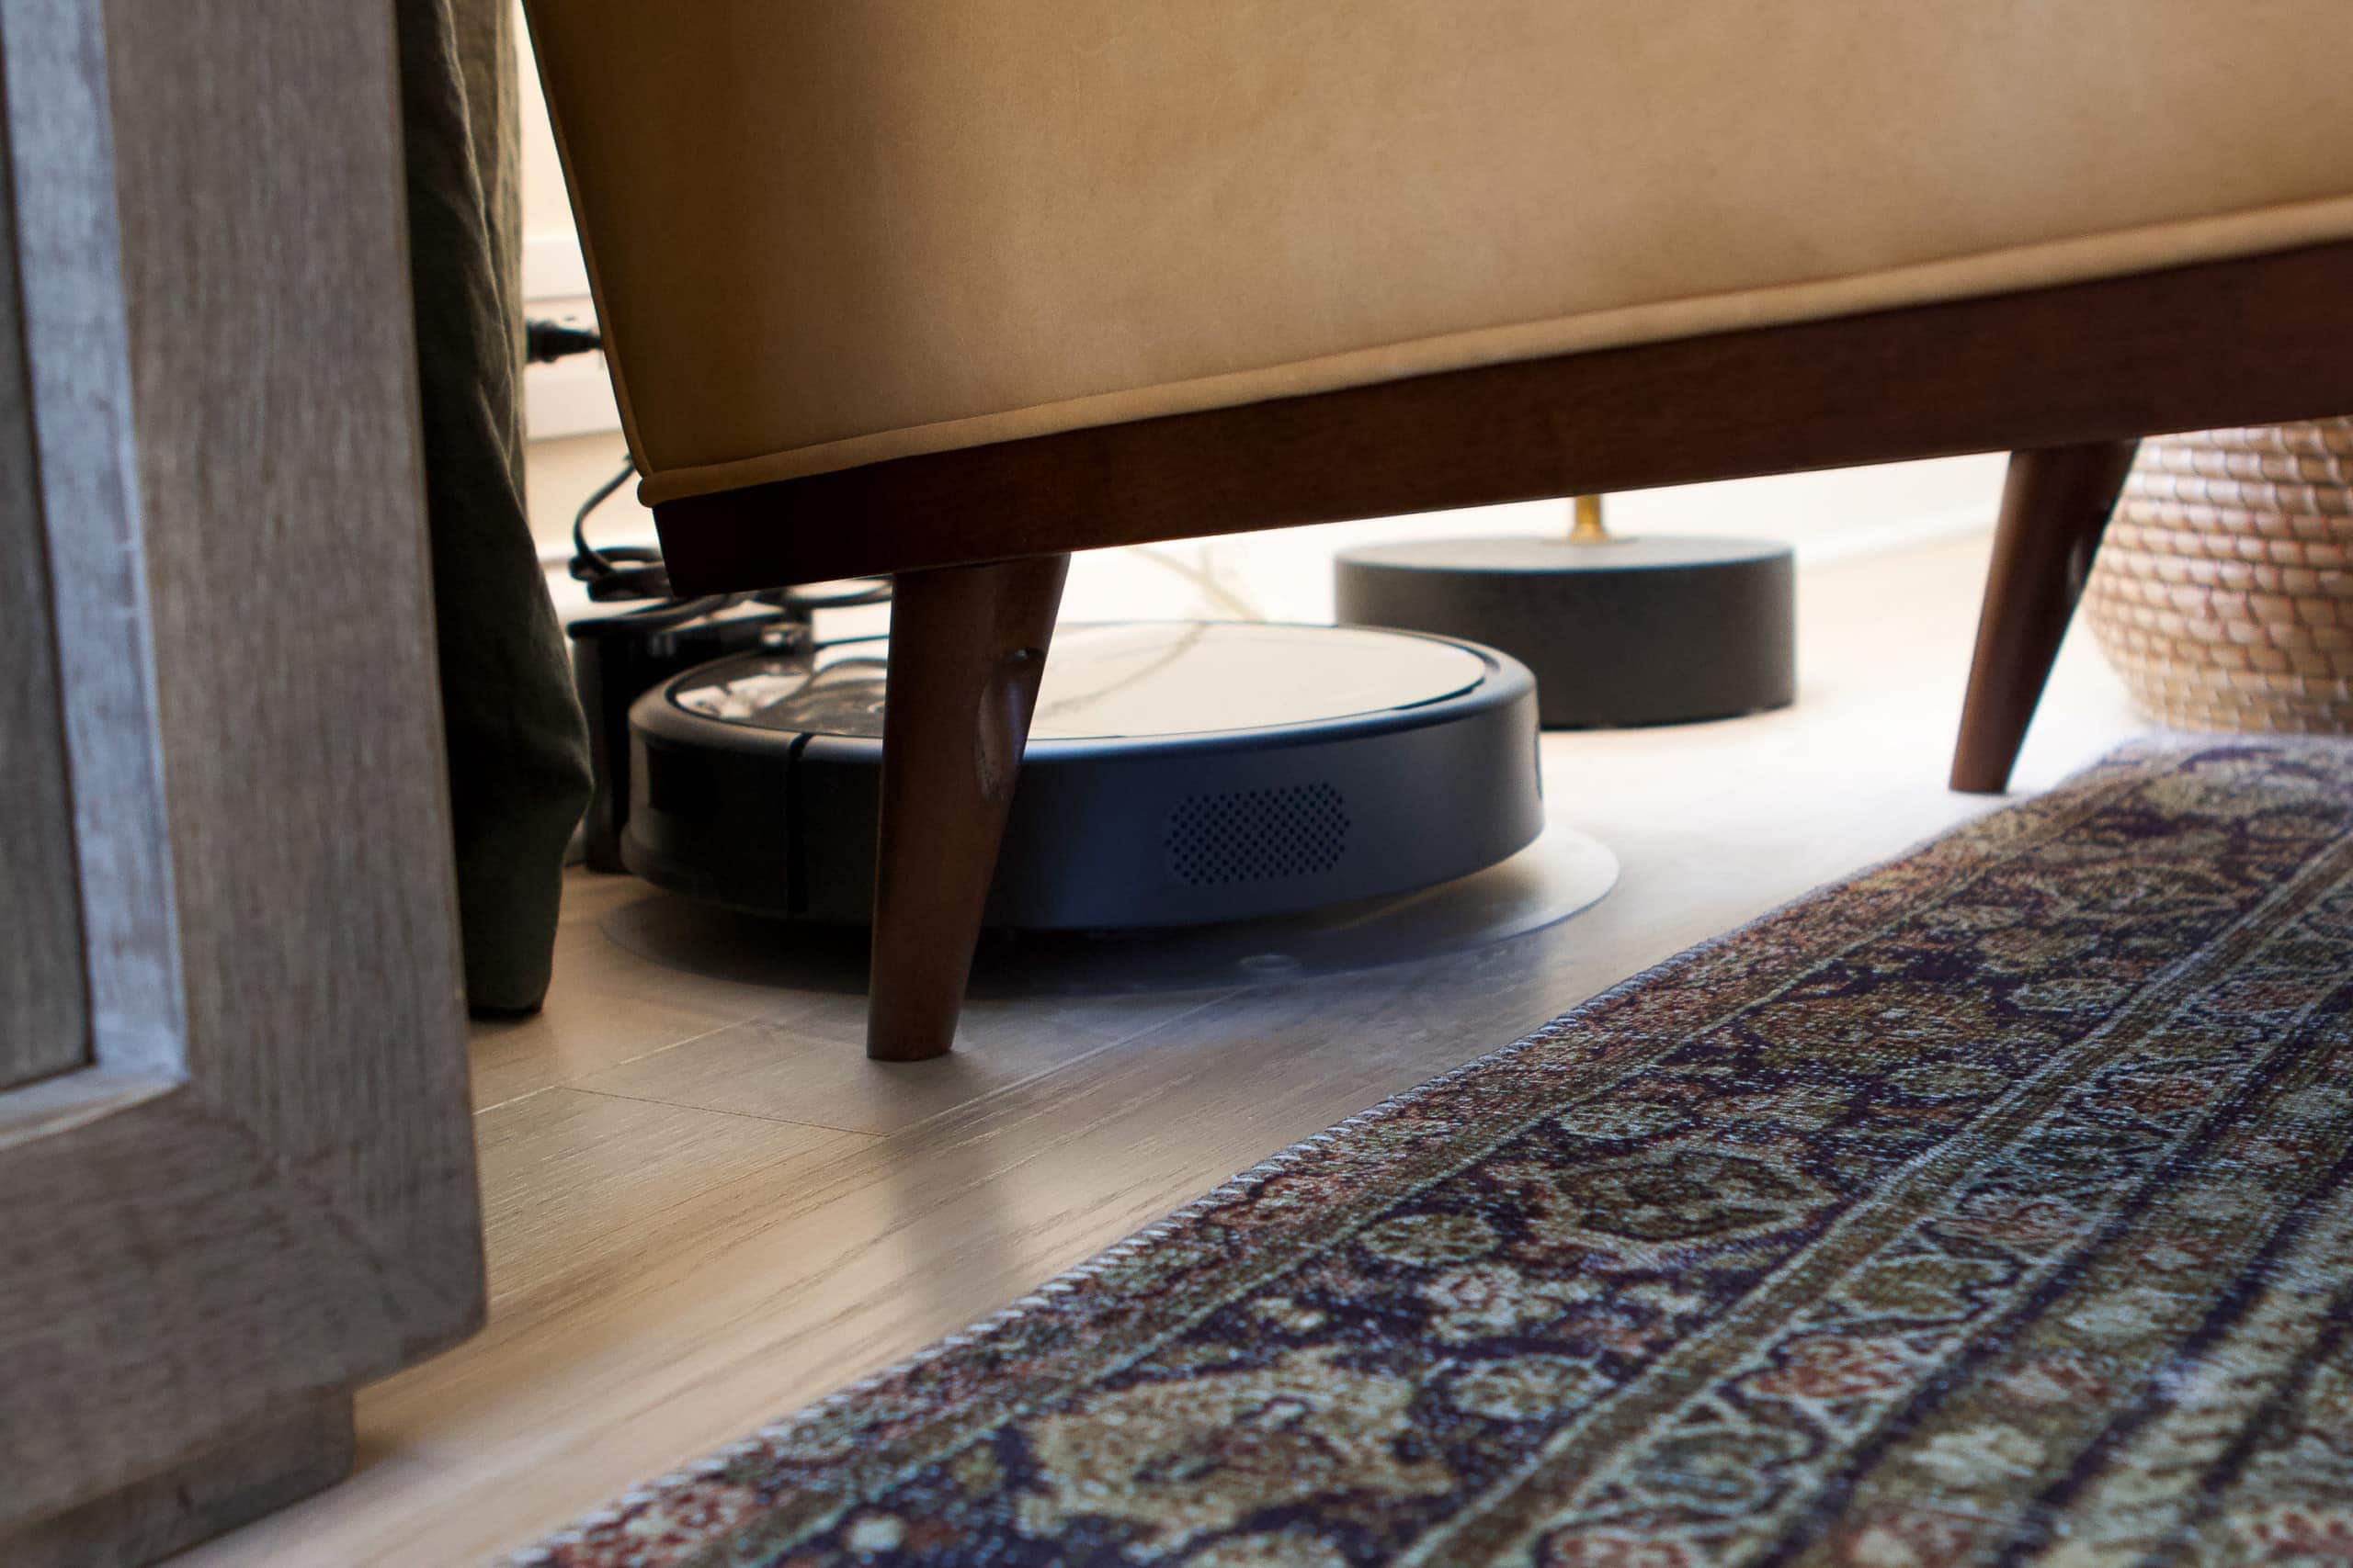
[[[1485,642],[1546,729],[1727,719],[1798,696],[1798,574],[1755,538],[1433,538],[1344,550],[1344,625]]]

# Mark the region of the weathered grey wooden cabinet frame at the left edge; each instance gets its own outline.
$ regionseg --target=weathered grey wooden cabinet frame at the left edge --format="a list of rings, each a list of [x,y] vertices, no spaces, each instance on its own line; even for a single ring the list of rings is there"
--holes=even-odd
[[[482,1319],[395,47],[0,0],[0,59],[89,1027],[0,1095],[0,1556],[139,1561]]]

